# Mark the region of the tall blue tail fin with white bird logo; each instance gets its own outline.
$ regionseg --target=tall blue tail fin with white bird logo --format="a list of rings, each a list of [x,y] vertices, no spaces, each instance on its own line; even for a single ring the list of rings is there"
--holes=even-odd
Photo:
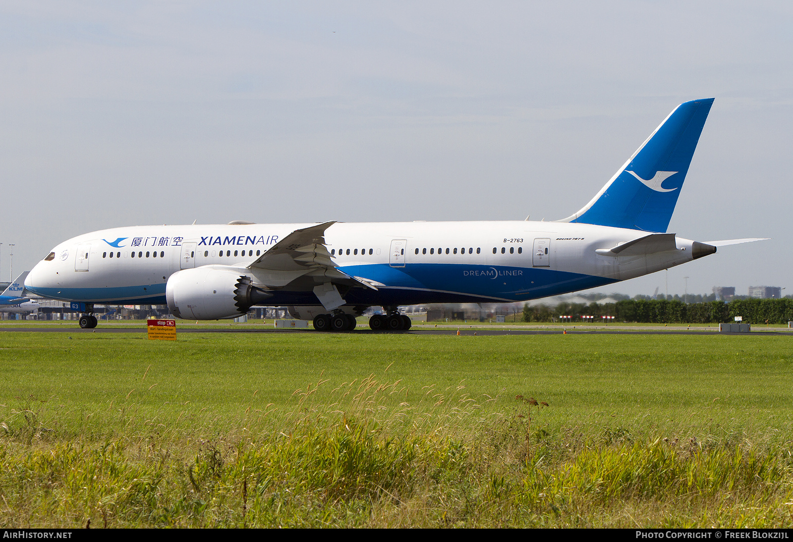
[[[592,201],[559,222],[665,232],[713,100],[678,105]]]

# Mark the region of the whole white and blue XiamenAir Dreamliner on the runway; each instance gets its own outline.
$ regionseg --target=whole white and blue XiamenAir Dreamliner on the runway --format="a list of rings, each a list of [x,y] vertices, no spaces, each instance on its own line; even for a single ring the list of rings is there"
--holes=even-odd
[[[289,307],[317,330],[411,326],[400,305],[504,303],[655,273],[717,246],[667,233],[713,99],[678,105],[580,211],[555,222],[299,223],[121,227],[60,243],[25,281],[86,303],[167,303],[182,319]]]

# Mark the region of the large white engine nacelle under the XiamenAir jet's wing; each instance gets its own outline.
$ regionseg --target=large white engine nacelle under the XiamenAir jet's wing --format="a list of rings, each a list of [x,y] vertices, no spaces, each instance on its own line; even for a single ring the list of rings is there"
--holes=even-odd
[[[209,265],[182,269],[171,275],[165,286],[170,313],[182,319],[236,318],[271,296],[251,284],[251,277]]]

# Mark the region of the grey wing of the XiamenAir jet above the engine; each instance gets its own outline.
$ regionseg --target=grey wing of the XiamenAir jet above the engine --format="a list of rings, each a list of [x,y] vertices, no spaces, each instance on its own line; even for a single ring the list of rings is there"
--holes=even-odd
[[[270,288],[282,288],[299,277],[316,277],[320,284],[338,282],[377,289],[371,281],[337,269],[324,237],[325,230],[333,224],[335,220],[293,231],[248,265],[248,269]]]

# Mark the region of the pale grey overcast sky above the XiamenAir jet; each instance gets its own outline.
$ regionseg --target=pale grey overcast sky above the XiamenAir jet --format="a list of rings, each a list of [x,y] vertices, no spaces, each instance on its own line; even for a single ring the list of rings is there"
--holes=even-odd
[[[788,2],[0,2],[0,279],[132,224],[547,220],[715,97],[669,293],[789,287]],[[665,273],[601,288],[652,294]]]

